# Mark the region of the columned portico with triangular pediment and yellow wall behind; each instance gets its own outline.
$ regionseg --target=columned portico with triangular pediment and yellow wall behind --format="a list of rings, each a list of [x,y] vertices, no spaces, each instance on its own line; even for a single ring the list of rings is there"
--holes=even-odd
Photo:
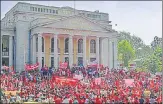
[[[81,17],[72,19],[65,19],[57,23],[52,22],[32,29],[32,35],[35,37],[32,38],[33,43],[38,41],[38,44],[32,44],[33,63],[38,61],[40,67],[44,65],[50,67],[53,64],[54,67],[58,68],[59,62],[64,62],[66,61],[64,59],[68,59],[69,65],[72,67],[73,64],[78,64],[81,59],[83,66],[86,66],[87,60],[90,61],[90,59],[94,58],[99,64],[110,68],[116,67],[117,57],[112,55],[113,52],[114,55],[117,54],[115,53],[117,52],[115,46],[117,32],[102,28]],[[76,22],[70,24],[68,22],[70,20]],[[79,20],[83,24],[85,22],[88,24],[79,25],[77,24]],[[74,25],[76,25],[75,28]],[[52,39],[54,42],[48,41]],[[38,48],[38,51],[36,51],[36,48]],[[42,48],[45,49],[43,50]],[[52,48],[54,50],[50,51]],[[50,60],[53,59],[54,61],[50,63]]]

